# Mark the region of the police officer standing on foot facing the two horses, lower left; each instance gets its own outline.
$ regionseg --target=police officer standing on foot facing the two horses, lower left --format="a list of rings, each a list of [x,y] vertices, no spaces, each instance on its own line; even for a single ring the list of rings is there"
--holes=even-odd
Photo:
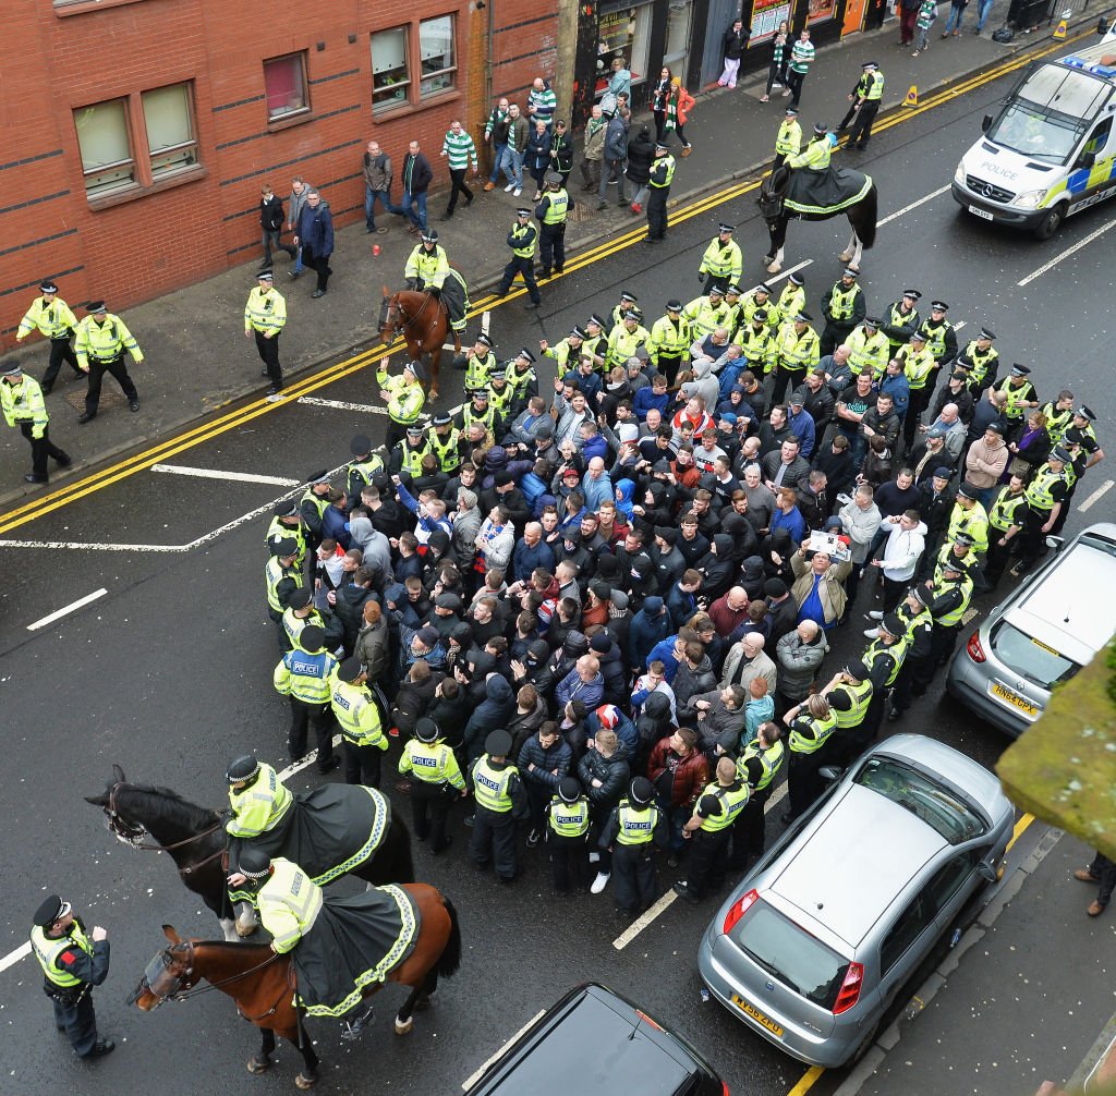
[[[55,1027],[79,1058],[112,1054],[116,1044],[97,1035],[93,988],[108,977],[108,933],[95,925],[87,936],[74,907],[57,894],[35,912],[31,950],[42,968],[42,990],[55,1004]]]

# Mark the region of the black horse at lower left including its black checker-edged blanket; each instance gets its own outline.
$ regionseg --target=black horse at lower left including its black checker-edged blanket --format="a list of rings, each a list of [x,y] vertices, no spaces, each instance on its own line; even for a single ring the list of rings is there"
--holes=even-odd
[[[339,823],[334,827],[337,845],[324,871],[320,865],[311,867],[305,853],[294,850],[307,861],[301,866],[315,873],[315,882],[325,885],[345,874],[373,886],[414,882],[411,833],[392,813],[385,796],[362,785],[327,783],[295,798],[296,813],[314,810],[317,802],[328,799]],[[224,815],[196,807],[170,788],[128,783],[118,765],[113,766],[106,790],[99,796],[86,796],[86,802],[104,810],[105,825],[117,840],[131,848],[167,853],[186,888],[221,922],[225,940],[234,941],[238,934],[249,936],[256,931],[256,914],[250,905],[241,908],[235,925],[231,916]],[[151,843],[145,840],[148,836]],[[286,853],[277,850],[273,855]]]

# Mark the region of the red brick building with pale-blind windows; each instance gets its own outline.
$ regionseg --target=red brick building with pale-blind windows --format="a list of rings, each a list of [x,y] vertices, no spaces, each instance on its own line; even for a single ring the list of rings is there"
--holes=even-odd
[[[25,0],[0,63],[0,339],[38,282],[148,300],[254,261],[259,184],[362,215],[360,157],[434,167],[449,123],[552,73],[557,0]],[[396,183],[393,198],[397,201]],[[79,317],[83,315],[79,313]]]

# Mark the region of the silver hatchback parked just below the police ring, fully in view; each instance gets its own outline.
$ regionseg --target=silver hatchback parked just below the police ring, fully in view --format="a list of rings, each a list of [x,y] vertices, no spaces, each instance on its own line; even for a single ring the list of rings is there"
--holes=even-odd
[[[983,766],[922,736],[887,739],[721,906],[698,951],[702,980],[793,1057],[854,1060],[966,902],[998,878],[1012,824]]]

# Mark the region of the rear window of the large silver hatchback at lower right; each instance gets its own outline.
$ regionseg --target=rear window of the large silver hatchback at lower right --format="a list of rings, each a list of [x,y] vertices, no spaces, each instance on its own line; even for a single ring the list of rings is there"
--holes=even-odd
[[[830,1009],[848,960],[766,902],[757,902],[734,930],[737,944],[800,997]]]

